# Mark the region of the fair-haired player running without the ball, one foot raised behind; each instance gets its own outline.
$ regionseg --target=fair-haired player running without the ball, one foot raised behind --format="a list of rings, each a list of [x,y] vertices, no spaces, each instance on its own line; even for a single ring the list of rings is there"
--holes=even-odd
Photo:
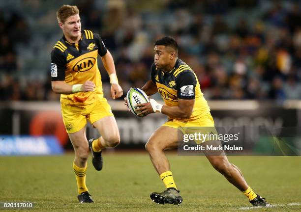
[[[103,96],[97,56],[110,76],[113,99],[122,95],[114,60],[98,34],[81,30],[77,6],[63,5],[57,11],[63,36],[51,52],[52,89],[60,95],[61,113],[75,151],[73,169],[80,203],[93,202],[86,186],[89,149],[96,170],[102,169],[101,150],[120,143],[120,134],[111,107]],[[87,120],[101,134],[86,138]]]

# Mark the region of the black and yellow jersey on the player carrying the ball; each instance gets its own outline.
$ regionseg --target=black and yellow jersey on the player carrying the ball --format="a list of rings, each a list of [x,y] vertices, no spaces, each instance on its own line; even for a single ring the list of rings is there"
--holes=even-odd
[[[162,69],[157,69],[155,64],[152,64],[151,80],[156,84],[158,92],[167,106],[178,106],[178,99],[195,99],[193,112],[189,118],[181,119],[170,116],[169,121],[192,121],[210,111],[201,92],[198,78],[181,59],[177,60],[175,67],[169,72],[163,72]]]

